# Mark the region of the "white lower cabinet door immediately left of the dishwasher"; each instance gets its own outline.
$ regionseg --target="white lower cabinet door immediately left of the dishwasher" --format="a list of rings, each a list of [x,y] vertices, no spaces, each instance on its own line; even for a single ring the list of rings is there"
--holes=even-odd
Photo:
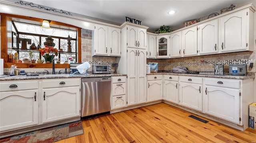
[[[42,90],[42,123],[80,116],[80,87]]]

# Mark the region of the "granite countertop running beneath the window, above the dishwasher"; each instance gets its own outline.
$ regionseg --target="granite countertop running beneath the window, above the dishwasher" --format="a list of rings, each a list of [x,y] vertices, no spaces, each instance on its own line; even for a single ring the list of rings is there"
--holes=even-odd
[[[127,74],[90,74],[90,75],[69,75],[69,74],[44,74],[40,76],[0,76],[0,81],[8,80],[30,80],[30,79],[54,79],[54,78],[90,78],[90,77],[108,77],[108,76],[126,76]]]

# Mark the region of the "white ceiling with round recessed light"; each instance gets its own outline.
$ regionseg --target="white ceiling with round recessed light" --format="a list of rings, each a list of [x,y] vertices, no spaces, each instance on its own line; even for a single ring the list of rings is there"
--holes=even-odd
[[[11,1],[11,0],[7,0]],[[72,13],[122,24],[126,16],[140,20],[141,25],[155,31],[161,25],[176,28],[184,22],[197,20],[231,4],[249,0],[25,0]],[[169,15],[170,10],[176,11]]]

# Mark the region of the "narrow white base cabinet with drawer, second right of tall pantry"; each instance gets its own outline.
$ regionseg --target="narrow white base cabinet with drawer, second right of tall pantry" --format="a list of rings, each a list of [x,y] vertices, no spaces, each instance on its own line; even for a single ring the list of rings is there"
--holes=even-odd
[[[178,76],[164,75],[163,96],[164,100],[179,103],[179,80]]]

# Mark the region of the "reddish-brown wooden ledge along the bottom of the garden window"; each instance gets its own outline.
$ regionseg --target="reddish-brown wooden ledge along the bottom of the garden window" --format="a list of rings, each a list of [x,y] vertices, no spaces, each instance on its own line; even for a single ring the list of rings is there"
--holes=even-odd
[[[52,68],[52,64],[46,63],[4,63],[4,68],[16,65],[18,68]],[[70,64],[55,64],[55,68],[70,68]]]

